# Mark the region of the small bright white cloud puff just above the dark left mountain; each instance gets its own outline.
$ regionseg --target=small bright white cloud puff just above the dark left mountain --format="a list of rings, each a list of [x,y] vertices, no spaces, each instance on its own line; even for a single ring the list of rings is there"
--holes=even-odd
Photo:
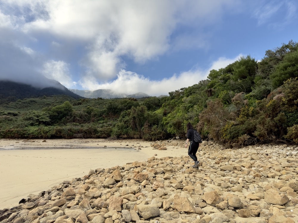
[[[74,82],[69,74],[69,64],[64,61],[50,60],[44,64],[43,74],[46,78],[59,81],[67,88],[74,87]]]

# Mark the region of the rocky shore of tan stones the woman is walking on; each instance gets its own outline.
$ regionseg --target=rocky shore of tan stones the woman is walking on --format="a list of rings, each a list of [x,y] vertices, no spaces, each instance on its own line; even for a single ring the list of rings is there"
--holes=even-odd
[[[199,168],[188,156],[153,156],[90,170],[1,210],[0,223],[295,223],[297,154],[297,146],[223,149],[203,142]]]

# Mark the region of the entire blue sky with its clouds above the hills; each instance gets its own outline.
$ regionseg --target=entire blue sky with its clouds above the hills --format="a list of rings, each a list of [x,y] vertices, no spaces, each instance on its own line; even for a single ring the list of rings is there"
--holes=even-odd
[[[151,96],[298,41],[297,0],[0,0],[0,80]]]

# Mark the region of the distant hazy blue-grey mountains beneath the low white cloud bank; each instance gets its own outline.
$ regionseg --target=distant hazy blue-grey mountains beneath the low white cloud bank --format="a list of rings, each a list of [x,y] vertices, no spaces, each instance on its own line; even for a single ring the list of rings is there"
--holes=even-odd
[[[149,95],[138,92],[133,95],[126,95],[124,93],[117,93],[114,92],[111,89],[98,89],[95,91],[89,91],[89,90],[78,90],[78,89],[69,89],[72,92],[84,97],[84,98],[144,98],[144,97],[150,97]]]

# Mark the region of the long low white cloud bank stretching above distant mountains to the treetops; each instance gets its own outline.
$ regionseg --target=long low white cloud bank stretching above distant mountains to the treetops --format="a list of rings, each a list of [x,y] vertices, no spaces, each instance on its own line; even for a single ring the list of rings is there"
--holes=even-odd
[[[182,87],[189,87],[201,80],[207,79],[210,70],[218,70],[222,67],[226,67],[230,63],[240,59],[241,56],[240,54],[233,59],[221,57],[214,61],[207,70],[189,70],[182,72],[178,76],[174,74],[172,77],[164,78],[161,81],[150,80],[137,73],[121,70],[117,74],[117,79],[114,81],[99,84],[94,77],[89,76],[83,78],[80,81],[80,85],[83,89],[111,89],[125,94],[144,92],[151,96],[168,95],[168,92],[181,89]]]

